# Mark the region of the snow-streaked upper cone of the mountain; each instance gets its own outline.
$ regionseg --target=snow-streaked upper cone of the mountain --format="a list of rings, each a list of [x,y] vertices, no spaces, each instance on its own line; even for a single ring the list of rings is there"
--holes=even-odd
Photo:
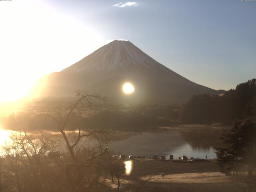
[[[145,54],[130,41],[114,40],[64,70],[117,70],[128,66],[141,65],[156,70],[158,62]]]

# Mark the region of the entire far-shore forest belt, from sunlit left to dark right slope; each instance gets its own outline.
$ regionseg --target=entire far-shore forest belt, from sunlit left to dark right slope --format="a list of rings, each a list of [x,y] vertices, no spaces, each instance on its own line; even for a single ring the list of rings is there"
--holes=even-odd
[[[51,119],[38,114],[54,114],[61,107],[63,112],[69,103],[35,103],[16,113],[0,115],[3,128],[11,130],[56,130]],[[256,116],[256,79],[239,84],[218,96],[199,94],[183,106],[160,104],[99,105],[93,108],[80,106],[71,117],[83,130],[113,129],[127,131],[155,130],[159,126],[185,124],[230,125],[244,116]]]

